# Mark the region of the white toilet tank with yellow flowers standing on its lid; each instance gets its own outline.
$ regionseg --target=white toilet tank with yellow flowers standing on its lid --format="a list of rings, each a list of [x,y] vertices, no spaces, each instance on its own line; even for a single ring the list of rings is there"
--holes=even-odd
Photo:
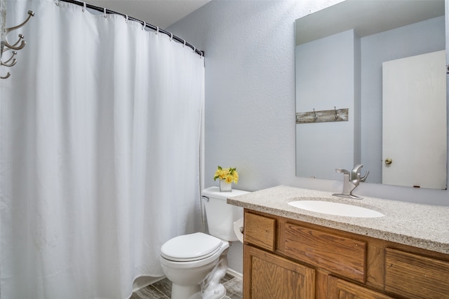
[[[242,190],[232,190],[232,192],[220,192],[218,187],[204,189],[204,207],[208,221],[209,235],[224,239],[226,241],[238,241],[234,232],[234,222],[243,217],[243,208],[227,204],[229,197],[248,193]]]

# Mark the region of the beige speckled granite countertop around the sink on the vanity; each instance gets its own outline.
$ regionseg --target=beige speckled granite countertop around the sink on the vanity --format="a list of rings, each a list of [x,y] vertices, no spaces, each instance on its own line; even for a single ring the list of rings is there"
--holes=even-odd
[[[380,211],[378,218],[333,216],[292,207],[294,200],[326,200]],[[354,232],[377,239],[449,254],[449,207],[414,204],[375,197],[352,200],[332,193],[277,186],[230,197],[227,203],[276,216]]]

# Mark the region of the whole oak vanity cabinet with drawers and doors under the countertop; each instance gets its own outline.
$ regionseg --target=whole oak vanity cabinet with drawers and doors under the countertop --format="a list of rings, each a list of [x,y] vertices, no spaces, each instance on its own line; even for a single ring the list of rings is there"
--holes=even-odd
[[[243,298],[449,298],[449,255],[245,209]]]

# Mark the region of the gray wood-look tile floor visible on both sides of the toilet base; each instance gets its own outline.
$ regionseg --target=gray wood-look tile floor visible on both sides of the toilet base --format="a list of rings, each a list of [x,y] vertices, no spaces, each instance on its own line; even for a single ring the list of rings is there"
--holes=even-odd
[[[222,280],[226,288],[224,299],[242,299],[243,284],[241,279],[226,274]],[[130,299],[169,299],[171,295],[171,282],[168,279],[162,279],[145,288],[135,291]]]

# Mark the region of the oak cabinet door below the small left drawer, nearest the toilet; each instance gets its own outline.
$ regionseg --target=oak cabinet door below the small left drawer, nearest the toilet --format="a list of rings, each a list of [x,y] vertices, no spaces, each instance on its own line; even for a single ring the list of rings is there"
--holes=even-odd
[[[315,270],[286,258],[244,246],[243,298],[312,299]]]

